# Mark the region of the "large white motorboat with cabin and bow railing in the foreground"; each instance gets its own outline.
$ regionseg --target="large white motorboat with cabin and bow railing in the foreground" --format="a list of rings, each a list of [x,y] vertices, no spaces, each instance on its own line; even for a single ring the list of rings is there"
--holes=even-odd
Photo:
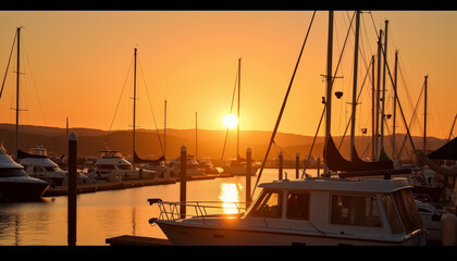
[[[305,178],[260,184],[246,212],[209,214],[201,203],[184,216],[177,206],[149,199],[172,245],[425,245],[411,186],[405,178]],[[225,206],[227,203],[225,202]],[[234,210],[234,209],[232,209]]]

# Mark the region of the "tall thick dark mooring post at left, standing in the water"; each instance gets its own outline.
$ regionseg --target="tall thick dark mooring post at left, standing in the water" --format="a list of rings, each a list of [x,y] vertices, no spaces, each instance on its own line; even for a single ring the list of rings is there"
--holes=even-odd
[[[67,197],[67,222],[69,246],[76,246],[76,186],[77,186],[77,172],[76,172],[76,158],[77,158],[77,137],[76,134],[71,133],[69,136],[69,197]]]

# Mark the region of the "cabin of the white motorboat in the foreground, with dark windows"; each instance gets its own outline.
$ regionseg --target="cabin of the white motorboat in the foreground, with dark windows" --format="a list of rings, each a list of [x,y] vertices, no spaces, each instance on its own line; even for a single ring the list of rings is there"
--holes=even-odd
[[[404,178],[285,179],[259,187],[263,188],[261,194],[242,217],[251,225],[398,241],[423,227],[411,187]]]

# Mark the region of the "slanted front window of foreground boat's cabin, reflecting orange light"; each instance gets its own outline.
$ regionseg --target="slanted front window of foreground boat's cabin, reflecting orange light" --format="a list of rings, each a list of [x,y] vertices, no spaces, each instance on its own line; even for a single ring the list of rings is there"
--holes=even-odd
[[[281,219],[282,192],[267,191],[257,201],[250,212],[250,216]]]

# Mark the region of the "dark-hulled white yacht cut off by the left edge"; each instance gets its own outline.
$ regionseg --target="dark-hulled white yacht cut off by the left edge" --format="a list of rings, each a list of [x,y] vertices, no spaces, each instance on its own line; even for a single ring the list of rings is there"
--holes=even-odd
[[[40,199],[49,183],[28,176],[24,166],[13,161],[0,145],[0,200],[22,201]]]

